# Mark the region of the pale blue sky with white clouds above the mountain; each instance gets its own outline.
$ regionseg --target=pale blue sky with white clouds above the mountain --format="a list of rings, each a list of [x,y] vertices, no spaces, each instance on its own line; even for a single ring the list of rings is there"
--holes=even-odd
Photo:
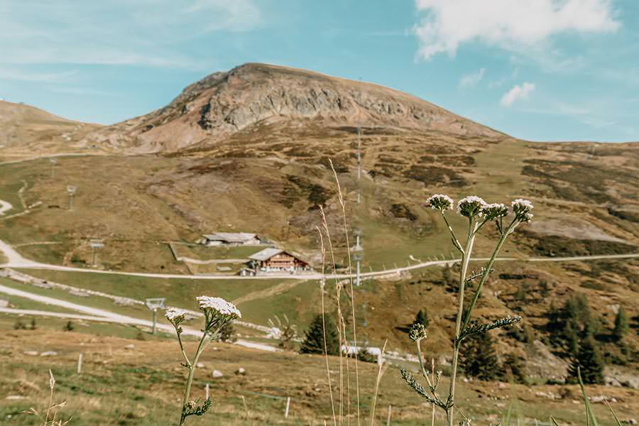
[[[532,141],[639,141],[639,0],[2,0],[0,99],[113,124],[268,62]]]

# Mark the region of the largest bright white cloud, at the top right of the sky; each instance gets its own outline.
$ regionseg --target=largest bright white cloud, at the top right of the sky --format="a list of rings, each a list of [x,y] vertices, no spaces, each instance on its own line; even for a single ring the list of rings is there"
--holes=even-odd
[[[519,49],[559,33],[606,33],[621,25],[612,0],[416,0],[426,15],[414,29],[417,56],[454,56],[464,43],[479,40]]]

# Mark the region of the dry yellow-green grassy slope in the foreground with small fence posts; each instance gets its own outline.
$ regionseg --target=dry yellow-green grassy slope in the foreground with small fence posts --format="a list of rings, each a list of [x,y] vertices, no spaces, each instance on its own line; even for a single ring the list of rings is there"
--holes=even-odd
[[[133,349],[125,349],[130,344]],[[187,346],[187,350],[193,349],[193,343]],[[51,350],[58,354],[49,357],[23,355],[24,351]],[[82,375],[78,376],[75,366],[80,352],[84,354],[84,367]],[[9,333],[0,352],[0,361],[3,371],[1,393],[23,396],[23,399],[0,400],[1,417],[15,425],[38,424],[35,417],[20,413],[31,407],[42,410],[45,406],[49,392],[48,369],[56,378],[55,400],[67,400],[60,415],[65,419],[72,416],[74,425],[175,422],[175,407],[180,403],[185,374],[179,366],[180,354],[173,339],[144,342],[104,334],[92,337],[79,332],[48,330],[44,326],[35,331]],[[214,403],[209,414],[190,420],[193,425],[309,425],[330,419],[327,379],[321,356],[270,354],[228,344],[212,344],[204,352],[202,362],[205,368],[197,370],[194,393],[203,395],[205,383],[210,383]],[[246,376],[234,374],[239,367],[246,368]],[[222,371],[224,377],[211,378],[212,368]],[[331,359],[330,368],[334,378],[337,359]],[[375,376],[376,366],[360,365],[363,415],[368,413]],[[583,420],[584,408],[579,403],[576,386],[526,387],[471,382],[461,383],[460,392],[459,403],[464,413],[482,423],[500,419],[506,410],[512,410],[513,418],[521,422],[547,422],[551,414],[562,424]],[[589,393],[616,398],[618,403],[613,405],[621,419],[632,417],[639,409],[637,391],[593,386]],[[557,398],[551,395],[557,395]],[[288,396],[291,398],[290,417],[285,420],[283,398]],[[386,421],[388,405],[393,407],[393,425],[422,425],[430,419],[430,407],[408,391],[394,367],[383,376],[378,422]],[[594,404],[594,410],[602,425],[613,425],[605,405]]]

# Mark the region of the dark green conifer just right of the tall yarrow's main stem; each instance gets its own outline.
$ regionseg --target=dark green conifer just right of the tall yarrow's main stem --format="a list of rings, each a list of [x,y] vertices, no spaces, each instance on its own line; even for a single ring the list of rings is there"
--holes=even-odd
[[[461,368],[467,376],[493,380],[501,373],[493,339],[488,333],[471,334],[461,342]]]

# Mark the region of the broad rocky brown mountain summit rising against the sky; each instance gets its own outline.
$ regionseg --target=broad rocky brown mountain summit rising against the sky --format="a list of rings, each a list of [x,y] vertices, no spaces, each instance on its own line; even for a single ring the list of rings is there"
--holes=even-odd
[[[136,152],[211,146],[271,124],[366,126],[442,131],[460,136],[502,133],[430,102],[378,84],[266,64],[215,72],[168,106],[92,133],[89,138]]]

